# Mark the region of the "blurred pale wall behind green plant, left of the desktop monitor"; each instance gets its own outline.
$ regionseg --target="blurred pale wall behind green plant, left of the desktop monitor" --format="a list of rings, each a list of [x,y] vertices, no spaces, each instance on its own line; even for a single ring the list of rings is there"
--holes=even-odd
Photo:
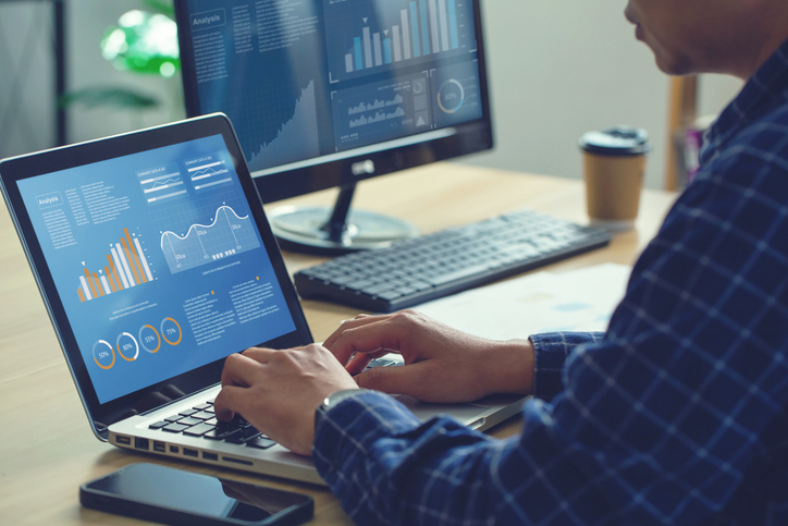
[[[70,90],[130,87],[160,98],[159,109],[131,112],[75,105],[69,110],[69,139],[88,140],[184,117],[178,78],[141,76],[115,70],[101,58],[104,30],[139,0],[66,1]],[[0,3],[0,157],[54,146],[54,62],[50,2]],[[15,71],[16,75],[9,72]],[[17,79],[23,79],[19,84]],[[9,103],[9,101],[11,101]]]

